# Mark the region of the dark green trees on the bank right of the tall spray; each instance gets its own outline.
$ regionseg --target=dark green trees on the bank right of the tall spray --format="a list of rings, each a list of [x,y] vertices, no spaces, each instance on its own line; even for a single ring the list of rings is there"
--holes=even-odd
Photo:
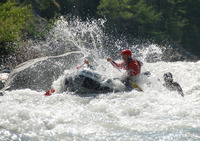
[[[169,40],[200,52],[200,0],[101,0],[98,14],[134,35]],[[197,54],[199,55],[199,54]]]

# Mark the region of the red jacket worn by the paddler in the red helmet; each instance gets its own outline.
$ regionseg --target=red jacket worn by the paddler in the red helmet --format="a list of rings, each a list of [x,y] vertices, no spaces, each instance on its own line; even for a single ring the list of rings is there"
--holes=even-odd
[[[133,58],[130,58],[128,60],[128,63],[122,62],[122,63],[118,64],[114,61],[113,61],[113,63],[115,63],[115,65],[118,68],[127,70],[128,74],[130,76],[136,76],[136,75],[140,74],[141,66],[143,65],[142,62],[135,60]]]

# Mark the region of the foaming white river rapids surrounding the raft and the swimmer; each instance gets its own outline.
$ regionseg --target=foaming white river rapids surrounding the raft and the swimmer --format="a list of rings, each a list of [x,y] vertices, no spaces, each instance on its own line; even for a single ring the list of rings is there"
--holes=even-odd
[[[0,140],[200,140],[200,61],[146,63],[145,54],[142,71],[150,71],[151,77],[138,83],[144,92],[85,97],[59,92],[73,69],[54,81],[52,96],[29,89],[7,91],[0,97]],[[121,75],[98,56],[105,75]],[[163,87],[165,72],[173,74],[185,97]]]

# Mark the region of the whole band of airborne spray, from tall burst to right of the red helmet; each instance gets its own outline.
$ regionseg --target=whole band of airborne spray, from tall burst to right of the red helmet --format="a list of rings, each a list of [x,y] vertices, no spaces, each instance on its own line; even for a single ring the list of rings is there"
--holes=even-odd
[[[46,56],[81,50],[85,57],[96,62],[109,56],[119,59],[123,49],[132,50],[133,56],[142,61],[161,60],[160,47],[146,43],[133,45],[124,38],[116,39],[105,33],[105,22],[104,19],[82,21],[70,15],[61,16],[55,21],[45,44],[38,47]]]

